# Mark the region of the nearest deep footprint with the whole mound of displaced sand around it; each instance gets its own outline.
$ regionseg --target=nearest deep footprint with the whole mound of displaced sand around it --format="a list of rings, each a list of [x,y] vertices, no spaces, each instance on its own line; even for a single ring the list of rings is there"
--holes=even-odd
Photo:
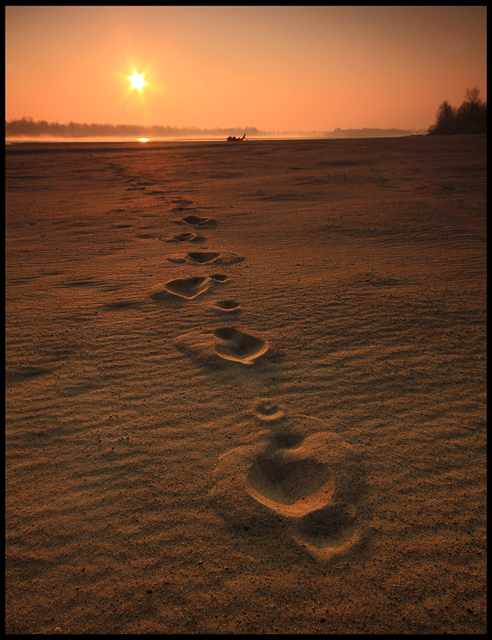
[[[270,442],[238,447],[219,459],[212,505],[225,521],[237,513],[258,521],[258,534],[268,535],[277,522],[280,537],[286,526],[290,538],[317,558],[348,553],[362,539],[359,454],[321,420],[295,416],[280,423]]]

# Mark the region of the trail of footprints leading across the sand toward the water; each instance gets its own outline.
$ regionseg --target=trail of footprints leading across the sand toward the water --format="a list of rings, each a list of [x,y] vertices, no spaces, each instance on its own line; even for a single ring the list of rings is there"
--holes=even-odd
[[[173,212],[187,214],[179,223],[196,230],[213,229],[217,221],[202,218],[191,201],[180,201]],[[204,242],[202,235],[180,233],[167,242]],[[231,265],[244,260],[234,253],[191,251],[184,256],[168,257],[174,264]],[[153,287],[149,295],[156,302],[193,301],[229,276],[171,279]],[[234,317],[241,305],[233,299],[214,303],[220,313]],[[196,333],[189,334],[187,337]],[[269,348],[268,341],[236,329],[219,326],[202,341],[201,348],[212,348],[223,361],[252,366]],[[275,526],[317,558],[327,560],[347,553],[361,540],[357,503],[363,489],[359,456],[347,442],[330,430],[329,425],[313,417],[285,415],[269,400],[260,402],[253,412],[267,431],[258,444],[236,447],[224,454],[215,471],[210,501],[226,522],[241,514],[244,530],[251,523],[263,523],[264,530]],[[258,520],[259,518],[259,520]],[[274,521],[272,523],[272,520]]]

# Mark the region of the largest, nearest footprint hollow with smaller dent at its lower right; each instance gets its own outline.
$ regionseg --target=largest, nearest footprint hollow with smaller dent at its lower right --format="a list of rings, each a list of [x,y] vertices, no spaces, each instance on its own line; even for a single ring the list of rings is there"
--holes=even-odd
[[[246,477],[256,501],[289,518],[293,538],[315,555],[345,553],[361,540],[355,502],[361,469],[354,449],[332,432],[260,454]]]

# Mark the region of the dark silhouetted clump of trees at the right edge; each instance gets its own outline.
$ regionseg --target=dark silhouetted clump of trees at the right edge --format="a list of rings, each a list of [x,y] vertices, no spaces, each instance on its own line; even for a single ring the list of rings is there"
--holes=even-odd
[[[478,87],[467,89],[458,109],[444,100],[436,113],[436,122],[429,127],[432,136],[451,134],[486,134],[487,103],[480,97]]]

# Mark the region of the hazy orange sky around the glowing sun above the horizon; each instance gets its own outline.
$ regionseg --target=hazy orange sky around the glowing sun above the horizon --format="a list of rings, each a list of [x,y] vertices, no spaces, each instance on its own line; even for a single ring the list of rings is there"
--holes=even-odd
[[[485,6],[6,7],[6,119],[427,129],[475,85]]]

